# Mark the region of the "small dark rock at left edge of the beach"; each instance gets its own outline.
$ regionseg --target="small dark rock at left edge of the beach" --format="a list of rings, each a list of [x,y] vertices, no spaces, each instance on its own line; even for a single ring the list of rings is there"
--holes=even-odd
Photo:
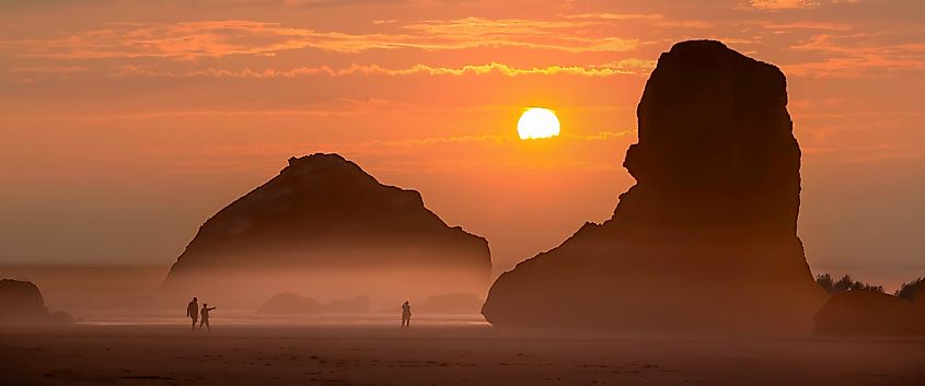
[[[0,280],[0,325],[70,324],[67,313],[49,313],[38,286],[13,279]]]

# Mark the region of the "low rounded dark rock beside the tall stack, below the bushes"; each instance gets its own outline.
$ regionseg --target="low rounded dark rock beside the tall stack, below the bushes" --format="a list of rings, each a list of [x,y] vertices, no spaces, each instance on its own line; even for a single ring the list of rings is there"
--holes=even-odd
[[[846,291],[832,295],[816,315],[817,335],[925,335],[925,309],[877,291]]]

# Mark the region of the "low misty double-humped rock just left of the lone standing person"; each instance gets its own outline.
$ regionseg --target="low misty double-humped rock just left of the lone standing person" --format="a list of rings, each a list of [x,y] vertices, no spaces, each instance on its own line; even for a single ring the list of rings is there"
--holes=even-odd
[[[311,297],[284,292],[273,296],[257,309],[257,313],[267,315],[363,314],[369,312],[369,296],[339,299],[321,304]]]

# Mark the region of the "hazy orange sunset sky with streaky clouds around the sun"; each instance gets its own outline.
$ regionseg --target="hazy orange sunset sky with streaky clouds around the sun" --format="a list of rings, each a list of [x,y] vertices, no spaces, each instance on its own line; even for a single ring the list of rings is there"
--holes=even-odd
[[[925,276],[925,2],[3,0],[0,265],[172,264],[290,156],[337,152],[497,270],[609,219],[658,56],[782,68],[816,273]],[[562,136],[517,137],[528,106]]]

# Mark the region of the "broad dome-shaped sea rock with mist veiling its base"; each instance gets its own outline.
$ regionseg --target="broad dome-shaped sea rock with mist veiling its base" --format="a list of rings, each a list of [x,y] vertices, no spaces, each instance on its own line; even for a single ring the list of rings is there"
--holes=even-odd
[[[230,290],[261,290],[259,301],[324,285],[328,295],[356,293],[339,291],[349,285],[379,294],[413,283],[432,294],[444,286],[484,291],[490,269],[487,242],[448,226],[424,207],[420,194],[382,185],[340,155],[319,153],[290,159],[278,176],[206,221],[166,284],[216,294],[224,280]]]

